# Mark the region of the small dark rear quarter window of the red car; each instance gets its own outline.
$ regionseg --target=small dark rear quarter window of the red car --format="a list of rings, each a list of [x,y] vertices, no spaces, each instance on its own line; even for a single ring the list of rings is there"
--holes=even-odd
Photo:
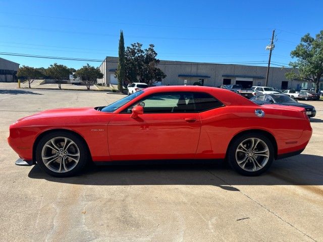
[[[224,105],[216,98],[214,98],[213,96],[207,93],[196,92],[194,93],[194,103],[189,102],[188,106],[190,110],[193,109],[192,106],[195,106],[194,108],[195,111],[202,112],[202,111],[214,109],[217,107],[222,107]]]

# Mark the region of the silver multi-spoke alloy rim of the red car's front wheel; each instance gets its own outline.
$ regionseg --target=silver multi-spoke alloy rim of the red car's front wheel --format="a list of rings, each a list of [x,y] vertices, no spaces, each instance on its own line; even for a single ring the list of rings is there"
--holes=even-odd
[[[80,150],[69,138],[55,137],[41,150],[44,165],[51,171],[63,173],[72,170],[80,160]]]

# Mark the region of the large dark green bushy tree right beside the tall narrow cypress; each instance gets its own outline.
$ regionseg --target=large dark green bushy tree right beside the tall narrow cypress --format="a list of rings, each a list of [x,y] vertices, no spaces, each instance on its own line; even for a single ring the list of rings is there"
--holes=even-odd
[[[154,45],[150,44],[147,49],[142,49],[141,43],[133,43],[125,52],[126,80],[128,82],[144,82],[149,85],[154,81],[161,81],[166,75],[157,68],[159,59]]]

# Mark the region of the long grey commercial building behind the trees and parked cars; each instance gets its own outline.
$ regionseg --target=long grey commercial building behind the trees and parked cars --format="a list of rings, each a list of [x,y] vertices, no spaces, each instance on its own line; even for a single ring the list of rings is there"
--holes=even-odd
[[[98,83],[105,86],[116,85],[118,80],[115,72],[118,67],[118,57],[107,56],[102,62],[100,71],[103,78]],[[240,84],[243,87],[264,86],[267,67],[227,65],[213,63],[160,61],[160,68],[167,76],[161,85],[193,85],[199,82],[204,86],[220,87],[225,84]],[[285,73],[289,68],[271,67],[268,85],[278,89],[311,88],[312,83],[300,80],[288,80]]]

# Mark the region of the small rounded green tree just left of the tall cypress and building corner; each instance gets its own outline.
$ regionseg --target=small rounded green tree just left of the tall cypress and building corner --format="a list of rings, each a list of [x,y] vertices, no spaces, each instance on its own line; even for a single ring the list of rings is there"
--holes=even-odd
[[[100,69],[98,67],[92,67],[89,64],[77,70],[74,76],[81,79],[87,90],[90,90],[90,86],[95,84],[97,79],[103,78],[103,74],[101,73]]]

